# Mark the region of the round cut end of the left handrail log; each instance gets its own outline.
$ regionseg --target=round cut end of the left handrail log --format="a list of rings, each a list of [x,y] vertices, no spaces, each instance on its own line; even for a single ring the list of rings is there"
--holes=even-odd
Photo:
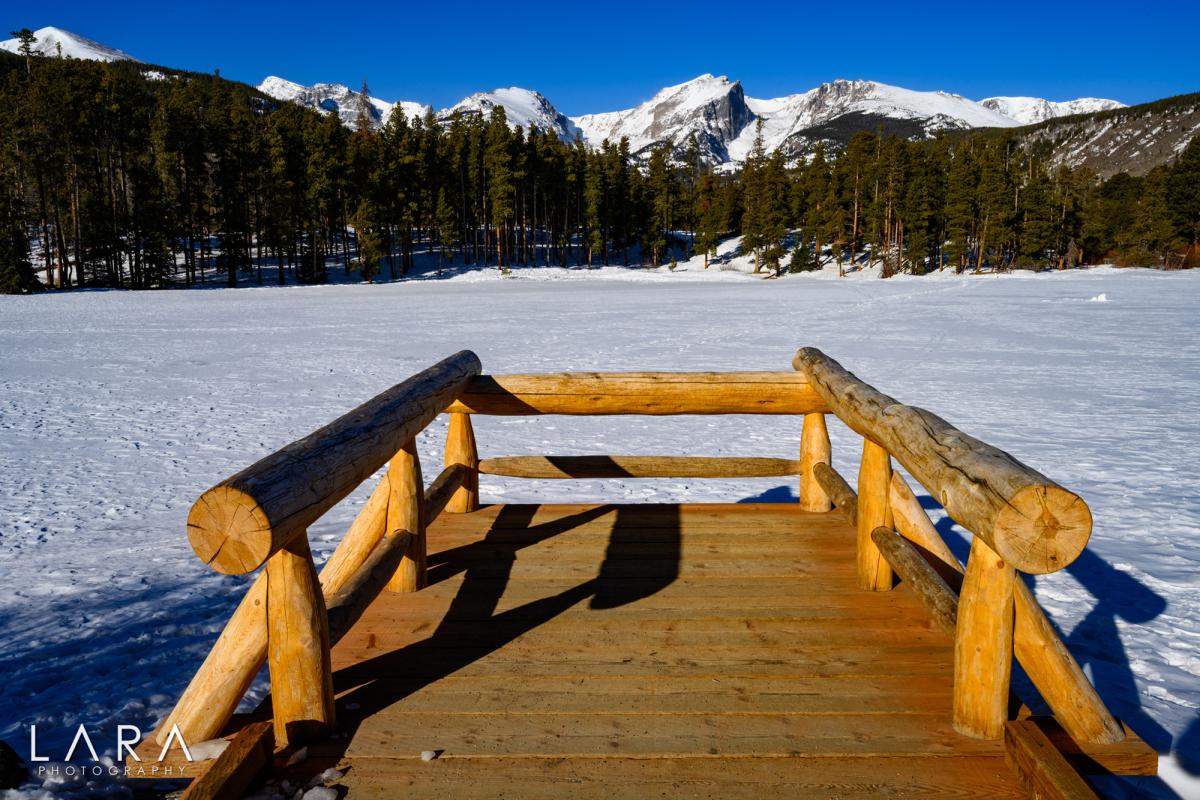
[[[188,512],[187,541],[217,572],[244,575],[260,567],[271,554],[271,523],[248,493],[215,486]]]

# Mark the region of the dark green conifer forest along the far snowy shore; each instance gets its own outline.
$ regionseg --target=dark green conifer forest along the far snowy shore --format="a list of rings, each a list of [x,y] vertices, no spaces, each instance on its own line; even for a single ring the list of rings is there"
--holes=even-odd
[[[694,138],[634,157],[626,140],[514,128],[503,108],[379,126],[365,101],[347,127],[218,74],[28,47],[0,59],[7,291],[396,278],[418,253],[439,269],[694,253],[707,267],[737,234],[768,275],[822,260],[883,276],[1151,263],[1200,237],[1198,187],[1198,142],[1146,176],[1100,181],[1006,132],[859,133],[794,166],[760,133],[739,172],[719,173]]]

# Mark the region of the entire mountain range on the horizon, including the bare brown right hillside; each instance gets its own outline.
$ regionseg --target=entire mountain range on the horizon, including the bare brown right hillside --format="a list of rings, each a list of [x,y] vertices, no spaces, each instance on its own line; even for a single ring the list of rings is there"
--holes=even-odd
[[[49,58],[137,61],[127,53],[60,28],[42,28],[34,36],[34,49]],[[18,53],[20,42],[0,42],[0,49]],[[163,77],[152,71],[145,74]],[[361,95],[349,86],[306,86],[271,76],[258,89],[281,101],[336,114],[347,126],[358,122]],[[431,110],[430,106],[410,101],[371,96],[367,101],[376,126],[384,125],[397,109],[410,119],[424,118]],[[1052,140],[1052,161],[1086,164],[1105,175],[1123,169],[1144,174],[1169,161],[1200,132],[1200,107],[1190,101],[1169,110],[1134,107],[1127,114],[1124,103],[1097,97],[1055,102],[1012,96],[976,102],[944,91],[913,91],[874,80],[833,80],[804,92],[760,100],[748,97],[739,82],[712,74],[667,86],[644,103],[617,112],[568,118],[544,95],[511,86],[470,95],[438,112],[437,119],[448,124],[458,114],[487,118],[497,106],[505,109],[514,127],[552,131],[565,142],[578,136],[588,145],[599,146],[606,139],[628,137],[630,151],[638,158],[665,142],[671,142],[679,156],[695,136],[701,157],[726,169],[736,169],[749,155],[760,120],[766,150],[782,150],[788,158],[803,157],[821,142],[845,144],[859,131],[925,138],[941,130],[1034,125],[1021,136]],[[1058,118],[1072,119],[1060,122]]]

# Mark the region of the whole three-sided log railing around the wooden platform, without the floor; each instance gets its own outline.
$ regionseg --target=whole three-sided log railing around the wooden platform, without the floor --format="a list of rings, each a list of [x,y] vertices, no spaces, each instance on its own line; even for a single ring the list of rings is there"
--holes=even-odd
[[[571,477],[796,476],[804,511],[844,511],[857,530],[864,589],[907,582],[955,637],[954,724],[998,738],[1012,657],[1076,740],[1123,730],[1104,708],[1015,571],[1061,570],[1091,533],[1086,504],[1007,453],[920,409],[901,405],[812,349],[790,373],[563,373],[484,375],[462,351],[364,403],[205,492],[187,521],[215,570],[265,565],[160,727],[187,741],[222,733],[266,663],[276,740],[335,726],[330,648],[385,588],[425,585],[425,530],[443,511],[479,507],[479,475]],[[415,437],[449,414],[445,469],[426,488]],[[858,492],[833,469],[827,414],[864,438]],[[510,456],[480,459],[470,416],[776,414],[803,416],[799,458]],[[964,570],[893,471],[895,458],[974,534]],[[308,527],[384,464],[374,488],[318,573]]]

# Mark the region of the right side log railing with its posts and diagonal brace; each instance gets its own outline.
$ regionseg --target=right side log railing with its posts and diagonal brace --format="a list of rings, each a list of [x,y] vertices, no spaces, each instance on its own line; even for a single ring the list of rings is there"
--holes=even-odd
[[[1008,453],[875,390],[820,350],[799,350],[793,367],[863,437],[857,497],[830,465],[814,470],[857,529],[859,585],[888,590],[899,572],[954,632],[955,729],[1002,736],[1015,654],[1074,739],[1122,740],[1121,724],[1016,576],[1055,572],[1079,557],[1092,531],[1087,504]],[[965,571],[892,470],[893,458],[973,534]]]

